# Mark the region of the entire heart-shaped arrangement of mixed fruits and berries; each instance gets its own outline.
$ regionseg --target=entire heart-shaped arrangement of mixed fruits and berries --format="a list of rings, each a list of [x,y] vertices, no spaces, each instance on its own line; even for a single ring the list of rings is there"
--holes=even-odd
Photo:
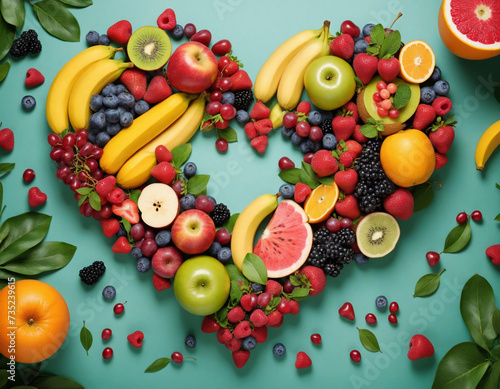
[[[394,249],[396,219],[412,216],[422,185],[432,190],[427,180],[447,161],[449,85],[425,42],[351,21],[334,37],[326,21],[279,46],[252,92],[229,41],[210,49],[211,33],[182,27],[171,9],[157,25],[133,31],[122,20],[87,34],[91,47],[49,90],[50,158],[80,212],[115,239],[113,252],[132,255],[140,272],[152,268],[158,290],[173,279],[181,306],[205,316],[202,331],[217,332],[242,367],[326,275]],[[171,38],[189,41],[172,52]],[[121,51],[130,62],[113,59]],[[300,101],[304,88],[310,102]],[[304,154],[300,168],[281,158],[287,183],[239,216],[206,193],[209,176],[188,161],[198,129],[215,127],[225,152],[237,140],[233,119],[259,153],[280,128]]]

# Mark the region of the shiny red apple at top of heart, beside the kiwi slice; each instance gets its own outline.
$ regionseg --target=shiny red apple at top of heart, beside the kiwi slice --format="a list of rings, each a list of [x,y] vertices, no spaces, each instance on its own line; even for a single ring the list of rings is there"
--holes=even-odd
[[[167,79],[173,88],[181,92],[200,93],[214,83],[217,70],[217,58],[207,46],[187,42],[170,57]]]

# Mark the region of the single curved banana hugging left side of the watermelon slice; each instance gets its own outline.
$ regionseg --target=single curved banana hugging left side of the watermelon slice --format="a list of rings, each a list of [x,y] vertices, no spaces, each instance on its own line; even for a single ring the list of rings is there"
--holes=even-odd
[[[231,253],[238,269],[243,268],[243,260],[253,252],[253,241],[260,223],[278,206],[278,197],[264,194],[253,200],[240,213],[234,224],[231,237]]]

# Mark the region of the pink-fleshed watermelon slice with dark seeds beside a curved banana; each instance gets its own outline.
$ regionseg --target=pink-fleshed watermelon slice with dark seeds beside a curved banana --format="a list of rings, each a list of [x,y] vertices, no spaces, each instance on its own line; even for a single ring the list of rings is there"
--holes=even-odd
[[[312,246],[312,228],[302,207],[283,200],[254,247],[264,261],[269,278],[292,274],[306,261]]]

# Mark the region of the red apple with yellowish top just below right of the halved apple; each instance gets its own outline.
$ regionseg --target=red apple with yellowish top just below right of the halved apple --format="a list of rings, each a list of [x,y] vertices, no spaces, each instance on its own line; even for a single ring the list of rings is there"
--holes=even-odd
[[[198,209],[182,212],[172,225],[172,241],[186,254],[201,254],[215,238],[215,224],[210,216]]]

